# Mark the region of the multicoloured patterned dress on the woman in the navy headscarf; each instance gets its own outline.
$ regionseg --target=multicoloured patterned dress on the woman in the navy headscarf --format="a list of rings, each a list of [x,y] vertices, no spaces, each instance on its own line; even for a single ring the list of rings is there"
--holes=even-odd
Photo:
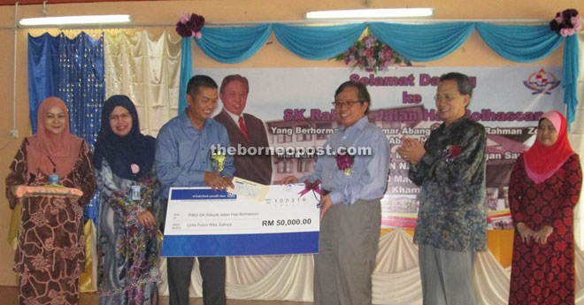
[[[102,303],[155,304],[160,282],[160,225],[162,202],[154,166],[138,181],[118,177],[107,161],[96,169],[99,188],[97,225],[97,288]],[[133,200],[131,187],[140,186],[140,200]],[[140,224],[137,215],[149,210],[154,227]],[[107,301],[104,301],[107,300]]]

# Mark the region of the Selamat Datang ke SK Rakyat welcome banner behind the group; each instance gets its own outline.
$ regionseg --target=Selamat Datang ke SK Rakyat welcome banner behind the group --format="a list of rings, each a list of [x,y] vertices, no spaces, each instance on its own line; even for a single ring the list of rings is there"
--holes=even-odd
[[[372,104],[369,121],[381,128],[391,147],[388,189],[382,204],[383,227],[414,227],[419,202],[408,179],[409,164],[396,154],[402,138],[425,140],[442,122],[434,95],[440,76],[463,72],[473,84],[467,115],[486,127],[487,204],[493,228],[511,227],[507,199],[511,169],[519,154],[534,142],[542,113],[565,113],[561,67],[400,67],[385,72],[350,68],[196,69],[220,84],[229,74],[250,81],[246,113],[264,121],[274,148],[321,147],[338,127],[334,90],[346,80],[365,84]],[[221,110],[219,103],[216,113]],[[291,151],[291,150],[290,150]],[[273,183],[288,175],[313,171],[316,156],[273,156]]]

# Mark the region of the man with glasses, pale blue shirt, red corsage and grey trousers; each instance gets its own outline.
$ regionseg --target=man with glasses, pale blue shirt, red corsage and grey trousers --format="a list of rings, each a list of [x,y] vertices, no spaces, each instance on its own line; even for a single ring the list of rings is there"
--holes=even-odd
[[[288,176],[282,183],[321,181],[314,304],[371,304],[389,144],[380,128],[369,124],[371,98],[363,84],[342,83],[333,104],[342,126],[328,138],[325,150],[336,154],[319,156],[312,174],[300,179]],[[358,154],[359,148],[368,151]]]

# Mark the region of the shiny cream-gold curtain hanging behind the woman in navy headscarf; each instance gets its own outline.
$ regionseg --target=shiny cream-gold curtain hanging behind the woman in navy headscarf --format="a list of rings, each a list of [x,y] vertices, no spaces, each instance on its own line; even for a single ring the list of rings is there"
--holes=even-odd
[[[158,37],[147,31],[105,32],[104,61],[105,96],[129,96],[142,133],[156,137],[179,109],[181,40],[167,32]]]

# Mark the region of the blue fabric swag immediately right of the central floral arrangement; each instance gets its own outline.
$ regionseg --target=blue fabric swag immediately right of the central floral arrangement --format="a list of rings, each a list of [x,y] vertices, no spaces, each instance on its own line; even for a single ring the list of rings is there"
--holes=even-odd
[[[430,61],[457,50],[473,33],[473,23],[402,25],[373,22],[371,33],[411,61]]]

